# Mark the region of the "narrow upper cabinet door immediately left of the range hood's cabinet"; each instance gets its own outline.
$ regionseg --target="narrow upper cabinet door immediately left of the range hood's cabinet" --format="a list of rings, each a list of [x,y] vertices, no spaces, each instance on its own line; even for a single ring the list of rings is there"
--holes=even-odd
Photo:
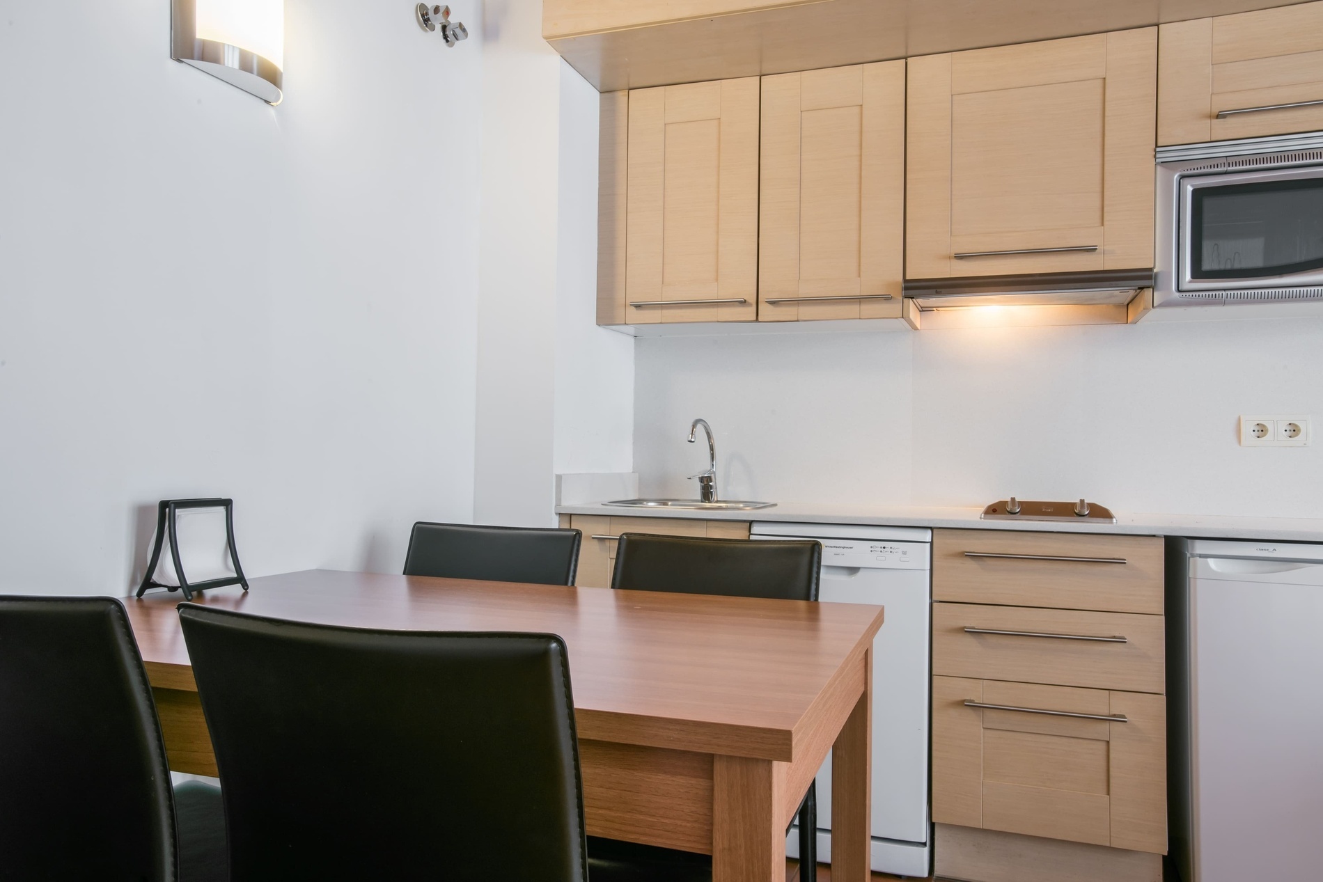
[[[901,315],[905,62],[762,78],[758,320]]]

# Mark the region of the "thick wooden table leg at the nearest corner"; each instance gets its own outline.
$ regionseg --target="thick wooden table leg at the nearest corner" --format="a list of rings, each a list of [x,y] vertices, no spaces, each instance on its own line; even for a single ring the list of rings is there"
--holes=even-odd
[[[786,764],[714,756],[712,882],[785,882]]]

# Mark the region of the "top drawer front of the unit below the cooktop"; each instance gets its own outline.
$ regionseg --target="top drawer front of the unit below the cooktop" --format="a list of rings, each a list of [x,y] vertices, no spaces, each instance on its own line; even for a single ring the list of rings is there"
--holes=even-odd
[[[933,532],[934,600],[1160,615],[1163,575],[1156,537]]]

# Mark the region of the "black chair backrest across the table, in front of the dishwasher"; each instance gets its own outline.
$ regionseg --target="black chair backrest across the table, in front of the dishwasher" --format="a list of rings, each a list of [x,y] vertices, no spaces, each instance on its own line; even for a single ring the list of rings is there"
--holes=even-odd
[[[624,533],[613,588],[816,600],[822,545]]]

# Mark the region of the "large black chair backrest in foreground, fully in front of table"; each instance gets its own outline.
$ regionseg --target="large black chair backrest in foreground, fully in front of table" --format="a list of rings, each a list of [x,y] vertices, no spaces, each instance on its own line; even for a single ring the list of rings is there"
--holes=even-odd
[[[180,619],[237,882],[586,879],[560,637]]]

